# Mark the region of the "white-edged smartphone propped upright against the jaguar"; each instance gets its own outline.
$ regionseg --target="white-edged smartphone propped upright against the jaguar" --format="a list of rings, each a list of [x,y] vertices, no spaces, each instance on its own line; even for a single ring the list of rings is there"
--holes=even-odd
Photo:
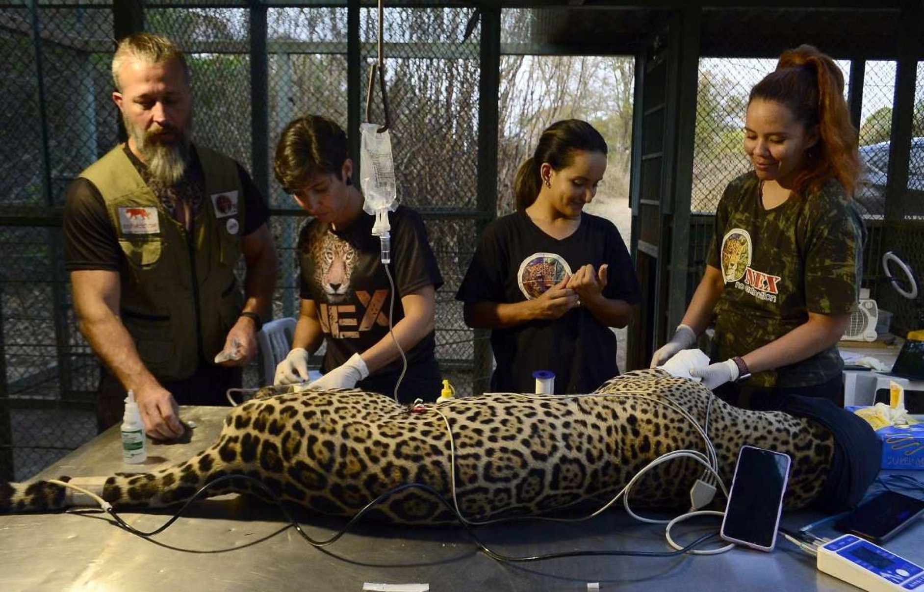
[[[720,534],[727,541],[773,550],[789,479],[788,454],[742,446]]]

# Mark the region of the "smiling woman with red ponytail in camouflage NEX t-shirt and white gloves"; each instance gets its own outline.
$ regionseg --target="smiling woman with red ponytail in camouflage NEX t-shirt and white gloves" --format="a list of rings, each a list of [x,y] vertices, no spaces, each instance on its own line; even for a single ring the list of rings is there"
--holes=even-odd
[[[690,374],[729,403],[841,404],[837,342],[857,309],[864,229],[851,199],[857,129],[829,56],[809,45],[780,56],[750,92],[744,149],[754,170],[725,187],[705,275],[651,366],[714,320],[713,363]]]

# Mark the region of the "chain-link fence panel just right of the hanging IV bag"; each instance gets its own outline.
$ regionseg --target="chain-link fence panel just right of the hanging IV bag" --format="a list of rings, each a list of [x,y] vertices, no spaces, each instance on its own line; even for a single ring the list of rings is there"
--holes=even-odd
[[[478,236],[480,24],[466,8],[386,8],[385,85],[398,197],[424,212],[445,284],[436,296],[436,356],[458,393],[471,393],[472,331],[455,295]],[[375,57],[379,18],[360,11],[362,79]],[[383,123],[381,91],[370,120]],[[395,261],[400,265],[400,261]]]

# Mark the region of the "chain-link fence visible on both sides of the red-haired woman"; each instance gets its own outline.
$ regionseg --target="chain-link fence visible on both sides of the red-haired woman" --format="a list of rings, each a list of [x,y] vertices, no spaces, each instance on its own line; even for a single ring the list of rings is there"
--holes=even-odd
[[[844,72],[846,99],[851,91],[851,62],[835,62]],[[713,214],[723,189],[750,168],[743,150],[748,93],[775,65],[775,59],[767,58],[707,57],[699,61],[687,302],[705,269],[713,238]],[[892,194],[887,193],[887,184],[895,62],[866,61],[863,72],[861,88],[854,89],[862,93],[859,145],[863,170],[855,198],[868,232],[863,253],[863,286],[869,288],[870,297],[878,301],[880,308],[893,313],[894,332],[904,334],[921,325],[918,317],[922,305],[920,301],[903,299],[889,287],[881,257],[887,250],[894,250],[912,269],[924,269],[924,216],[921,215],[924,213],[924,71],[918,64],[907,187],[895,187]],[[893,199],[888,222],[887,197]]]

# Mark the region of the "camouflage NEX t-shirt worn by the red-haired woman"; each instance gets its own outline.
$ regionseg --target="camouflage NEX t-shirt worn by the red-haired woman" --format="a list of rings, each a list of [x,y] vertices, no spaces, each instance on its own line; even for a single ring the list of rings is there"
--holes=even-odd
[[[712,361],[744,356],[808,320],[809,312],[857,309],[865,230],[836,180],[765,210],[753,172],[725,187],[709,264],[725,281],[715,306]],[[795,364],[754,374],[755,387],[810,386],[844,367],[832,346]]]

